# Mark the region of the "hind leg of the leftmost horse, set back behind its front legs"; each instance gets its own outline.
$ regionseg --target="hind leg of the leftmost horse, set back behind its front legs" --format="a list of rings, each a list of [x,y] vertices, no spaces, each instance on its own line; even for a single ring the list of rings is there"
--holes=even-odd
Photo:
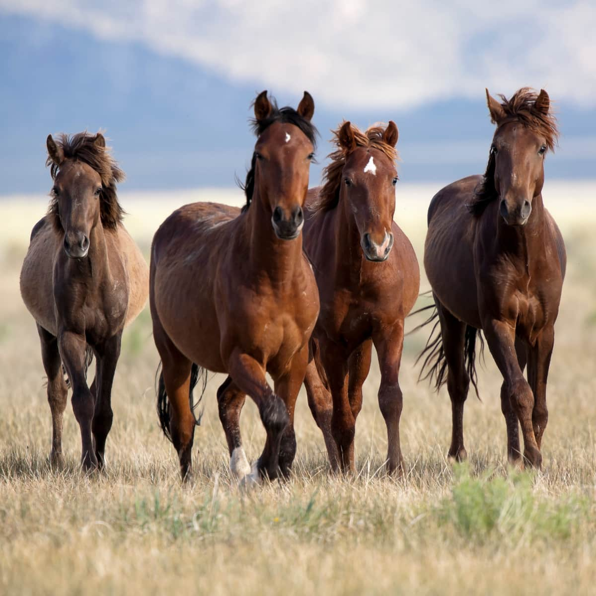
[[[40,325],[37,326],[41,342],[41,356],[44,363],[46,377],[48,377],[48,403],[52,413],[52,449],[49,462],[52,467],[63,467],[62,428],[64,410],[68,397],[68,388],[58,350],[58,340]]]

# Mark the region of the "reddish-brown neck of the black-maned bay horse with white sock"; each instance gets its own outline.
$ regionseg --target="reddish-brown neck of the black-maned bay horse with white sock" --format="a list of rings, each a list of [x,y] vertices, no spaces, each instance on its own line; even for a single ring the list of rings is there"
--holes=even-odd
[[[243,269],[255,278],[265,275],[275,284],[290,281],[302,262],[302,233],[294,240],[280,240],[271,224],[271,213],[256,189],[243,223],[249,254]]]

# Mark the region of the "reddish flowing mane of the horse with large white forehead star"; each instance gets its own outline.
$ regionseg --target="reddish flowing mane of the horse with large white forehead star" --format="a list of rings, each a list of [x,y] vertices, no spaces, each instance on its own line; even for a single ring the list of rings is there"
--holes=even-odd
[[[349,155],[340,145],[339,132],[342,129],[342,126],[343,122],[336,130],[332,131],[333,139],[331,142],[335,145],[336,150],[327,156],[331,160],[331,163],[323,169],[323,184],[321,191],[319,192],[319,196],[310,206],[314,213],[330,211],[337,207],[337,203],[339,202],[342,171]],[[398,159],[398,152],[395,147],[392,147],[392,145],[383,141],[383,132],[385,132],[385,128],[386,126],[376,124],[367,128],[366,132],[362,132],[356,128],[356,126],[352,125],[356,147],[378,149],[389,157],[392,162],[395,162],[395,160]]]

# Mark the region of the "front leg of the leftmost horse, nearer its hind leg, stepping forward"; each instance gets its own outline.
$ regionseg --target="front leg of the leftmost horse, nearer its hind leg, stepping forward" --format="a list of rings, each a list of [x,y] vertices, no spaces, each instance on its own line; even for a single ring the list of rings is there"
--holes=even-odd
[[[81,465],[84,470],[93,470],[97,468],[97,457],[95,457],[91,435],[95,403],[85,378],[85,349],[87,347],[85,335],[73,331],[63,331],[58,337],[58,346],[64,367],[69,375],[70,386],[73,389],[73,411],[79,423],[82,443]]]

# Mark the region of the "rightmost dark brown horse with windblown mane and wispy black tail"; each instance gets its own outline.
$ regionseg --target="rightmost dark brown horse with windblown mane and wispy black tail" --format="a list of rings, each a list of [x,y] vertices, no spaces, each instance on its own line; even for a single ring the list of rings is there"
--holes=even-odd
[[[464,402],[470,380],[477,390],[475,344],[484,333],[504,379],[508,458],[520,460],[519,421],[524,462],[540,467],[566,266],[561,232],[542,203],[544,158],[558,132],[544,90],[523,88],[510,100],[501,95],[502,103],[487,90],[486,98],[496,131],[485,175],[450,184],[429,206],[424,267],[436,305],[429,321],[438,317],[440,336],[431,334],[424,367],[437,389],[447,383],[449,456],[462,460]]]

